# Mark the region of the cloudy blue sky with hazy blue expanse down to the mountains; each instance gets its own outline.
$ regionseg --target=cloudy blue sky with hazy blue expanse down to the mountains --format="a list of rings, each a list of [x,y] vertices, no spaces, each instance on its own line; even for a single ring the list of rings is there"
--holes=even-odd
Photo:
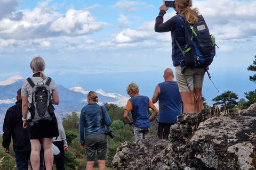
[[[0,0],[0,81],[31,76],[35,56],[57,84],[127,95],[131,82],[149,98],[171,60],[170,32],[154,31],[161,0]],[[203,96],[255,89],[247,66],[256,55],[256,1],[193,1],[215,36],[217,56],[205,76]],[[175,12],[170,8],[164,20]]]

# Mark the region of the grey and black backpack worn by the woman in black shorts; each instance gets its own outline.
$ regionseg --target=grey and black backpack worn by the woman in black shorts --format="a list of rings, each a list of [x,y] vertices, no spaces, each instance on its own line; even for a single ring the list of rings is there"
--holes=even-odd
[[[32,102],[28,107],[33,122],[39,120],[51,121],[52,117],[55,116],[49,89],[51,80],[51,78],[47,78],[45,84],[43,81],[38,81],[37,84],[35,84],[31,78],[27,78],[30,86],[33,87]]]

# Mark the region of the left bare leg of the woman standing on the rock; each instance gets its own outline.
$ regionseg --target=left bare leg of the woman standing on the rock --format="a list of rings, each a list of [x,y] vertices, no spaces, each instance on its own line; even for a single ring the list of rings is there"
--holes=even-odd
[[[183,113],[194,113],[194,92],[180,92],[183,101]]]

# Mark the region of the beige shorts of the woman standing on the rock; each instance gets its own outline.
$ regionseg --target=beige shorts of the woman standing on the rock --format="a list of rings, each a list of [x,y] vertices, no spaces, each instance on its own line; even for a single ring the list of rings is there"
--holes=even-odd
[[[175,67],[175,72],[176,72],[176,79],[179,86],[179,91],[180,92],[189,91],[185,78],[181,73],[180,65]],[[194,88],[203,87],[204,74],[205,74],[205,69],[198,69],[193,67],[193,70],[192,70],[190,66],[187,66],[185,68],[185,75],[186,75],[188,84],[190,86],[190,90],[193,90]]]

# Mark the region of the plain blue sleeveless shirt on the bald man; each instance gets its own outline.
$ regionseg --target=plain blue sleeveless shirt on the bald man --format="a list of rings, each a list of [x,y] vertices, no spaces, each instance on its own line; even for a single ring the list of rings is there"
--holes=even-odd
[[[160,88],[158,122],[177,123],[177,116],[182,113],[182,99],[178,83],[164,81],[158,86]]]

